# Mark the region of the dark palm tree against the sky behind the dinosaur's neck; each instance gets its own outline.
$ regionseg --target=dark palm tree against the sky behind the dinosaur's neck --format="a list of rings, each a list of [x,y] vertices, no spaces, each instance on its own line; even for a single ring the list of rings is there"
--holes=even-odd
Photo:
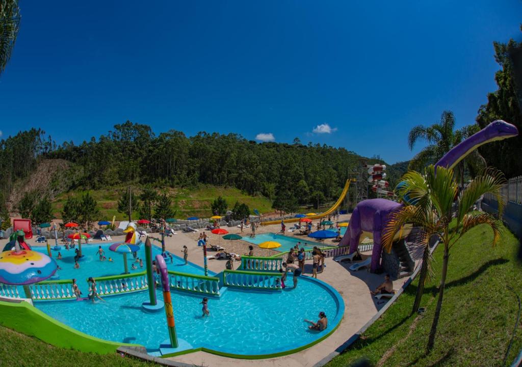
[[[455,115],[452,111],[444,111],[438,124],[413,127],[408,135],[410,150],[413,149],[413,146],[419,140],[424,140],[429,145],[413,157],[410,161],[409,169],[421,171],[422,167],[429,163],[435,163],[462,140],[479,131],[477,125],[468,125],[457,130],[454,128]],[[471,152],[465,159],[465,162],[472,176],[485,167],[485,160],[477,150]],[[458,171],[461,187],[464,187],[464,161],[459,163]]]

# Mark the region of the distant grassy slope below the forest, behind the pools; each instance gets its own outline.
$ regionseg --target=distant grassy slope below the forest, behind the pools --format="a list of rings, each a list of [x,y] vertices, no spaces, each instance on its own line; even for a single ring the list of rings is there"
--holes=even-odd
[[[91,190],[90,194],[97,200],[98,206],[101,211],[101,218],[111,220],[113,216],[116,216],[116,220],[124,220],[126,216],[122,213],[118,213],[117,201],[120,197],[120,193],[126,190],[126,187],[111,187],[103,190]],[[138,188],[136,190],[139,191]],[[56,218],[61,218],[61,210],[63,205],[69,196],[79,197],[86,193],[86,191],[73,191],[58,195],[53,200],[53,214]],[[210,203],[213,202],[218,196],[222,196],[227,200],[229,208],[232,208],[236,201],[245,203],[248,207],[258,209],[260,212],[273,211],[271,209],[271,202],[264,196],[249,196],[237,188],[224,188],[208,185],[200,185],[198,188],[169,188],[173,200],[173,209],[176,212],[176,218],[187,218],[191,216],[198,216],[202,218],[208,218],[212,216],[210,210]],[[253,212],[252,212],[253,214]],[[136,214],[138,215],[138,214]]]

